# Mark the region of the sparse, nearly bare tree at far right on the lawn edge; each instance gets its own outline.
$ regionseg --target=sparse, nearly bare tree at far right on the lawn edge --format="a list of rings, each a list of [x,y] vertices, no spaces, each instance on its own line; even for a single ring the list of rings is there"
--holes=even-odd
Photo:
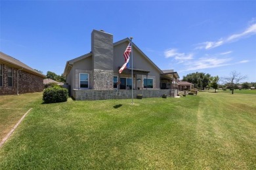
[[[234,94],[234,88],[238,86],[238,83],[245,78],[247,78],[247,76],[243,76],[236,71],[232,71],[230,76],[223,77],[222,79],[226,84],[230,84],[230,88],[232,88],[232,94]]]

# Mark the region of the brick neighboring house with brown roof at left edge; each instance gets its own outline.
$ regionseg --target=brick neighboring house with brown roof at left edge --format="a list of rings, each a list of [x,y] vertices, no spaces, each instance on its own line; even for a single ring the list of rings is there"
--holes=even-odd
[[[0,52],[0,95],[43,91],[45,75]]]

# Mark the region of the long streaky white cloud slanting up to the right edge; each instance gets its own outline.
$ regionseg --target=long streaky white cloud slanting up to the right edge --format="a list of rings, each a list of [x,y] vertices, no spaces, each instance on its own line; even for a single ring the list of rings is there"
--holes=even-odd
[[[217,46],[221,46],[221,45],[223,45],[225,43],[228,43],[228,42],[238,41],[239,39],[242,39],[244,37],[249,37],[249,36],[254,35],[254,34],[256,34],[256,24],[250,25],[242,33],[230,35],[226,39],[219,39],[218,41],[202,42],[202,43],[198,44],[196,49],[203,49],[204,48],[204,49],[208,50],[208,49],[211,49],[211,48],[215,48]]]

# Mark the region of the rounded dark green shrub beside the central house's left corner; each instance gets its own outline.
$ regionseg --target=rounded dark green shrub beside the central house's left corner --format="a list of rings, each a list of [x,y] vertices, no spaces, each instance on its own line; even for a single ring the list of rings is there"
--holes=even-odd
[[[58,103],[68,100],[68,89],[54,86],[43,91],[43,101],[45,103]]]

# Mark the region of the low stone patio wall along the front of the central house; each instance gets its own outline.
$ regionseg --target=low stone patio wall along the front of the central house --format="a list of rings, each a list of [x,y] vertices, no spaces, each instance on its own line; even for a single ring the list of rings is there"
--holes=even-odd
[[[77,90],[73,89],[73,97],[77,101],[81,100],[106,100],[106,99],[136,99],[138,94],[143,98],[161,97],[166,94],[168,97],[176,97],[178,90]]]

